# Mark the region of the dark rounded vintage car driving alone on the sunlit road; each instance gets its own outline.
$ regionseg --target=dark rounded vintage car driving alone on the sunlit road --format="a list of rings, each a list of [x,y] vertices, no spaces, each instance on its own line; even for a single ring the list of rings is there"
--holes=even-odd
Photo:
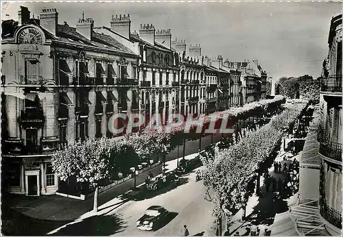
[[[160,227],[169,212],[161,207],[160,205],[152,205],[150,208],[145,210],[144,215],[138,219],[136,225],[138,229],[141,230],[155,230]]]

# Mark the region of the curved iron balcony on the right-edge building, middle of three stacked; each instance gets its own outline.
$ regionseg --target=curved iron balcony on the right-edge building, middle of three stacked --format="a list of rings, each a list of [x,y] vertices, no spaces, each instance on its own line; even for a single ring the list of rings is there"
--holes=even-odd
[[[320,124],[317,136],[318,142],[320,142],[319,153],[337,162],[342,162],[342,144],[331,141],[328,134],[327,128]]]

